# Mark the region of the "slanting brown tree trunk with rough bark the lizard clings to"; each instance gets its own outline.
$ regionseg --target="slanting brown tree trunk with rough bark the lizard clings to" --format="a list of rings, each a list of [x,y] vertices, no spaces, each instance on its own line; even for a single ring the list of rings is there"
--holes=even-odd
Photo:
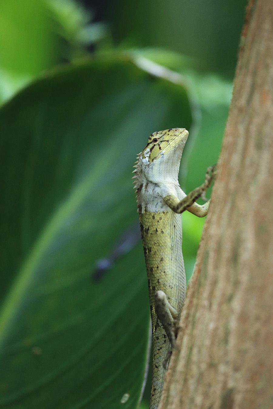
[[[273,1],[250,0],[160,409],[273,408]]]

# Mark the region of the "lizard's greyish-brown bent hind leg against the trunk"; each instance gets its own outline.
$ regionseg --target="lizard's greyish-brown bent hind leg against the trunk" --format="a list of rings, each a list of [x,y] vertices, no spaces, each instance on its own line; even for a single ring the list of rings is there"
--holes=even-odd
[[[155,310],[158,319],[160,320],[169,342],[171,344],[171,350],[176,348],[176,335],[177,335],[177,311],[171,306],[167,300],[167,296],[164,291],[158,290],[154,295]],[[168,357],[170,354],[167,354]],[[166,357],[167,359],[167,357]],[[166,361],[164,360],[164,362]],[[167,359],[168,361],[168,359]]]

